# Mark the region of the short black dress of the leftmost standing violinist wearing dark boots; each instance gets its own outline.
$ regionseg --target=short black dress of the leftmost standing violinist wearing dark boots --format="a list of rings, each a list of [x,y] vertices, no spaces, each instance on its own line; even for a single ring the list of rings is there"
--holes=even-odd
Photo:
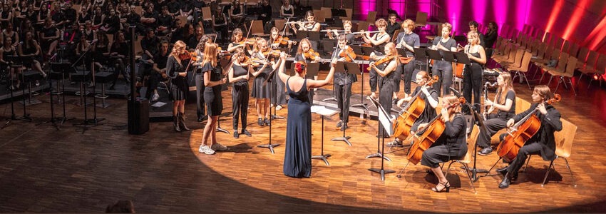
[[[174,56],[168,56],[166,73],[170,76],[170,96],[173,101],[182,101],[188,96],[188,81],[185,80],[185,77],[179,75],[180,72],[185,72],[185,68]]]

